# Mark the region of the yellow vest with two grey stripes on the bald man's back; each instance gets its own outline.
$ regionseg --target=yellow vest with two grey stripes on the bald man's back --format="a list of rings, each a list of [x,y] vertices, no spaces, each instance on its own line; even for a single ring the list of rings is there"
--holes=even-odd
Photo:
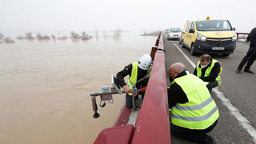
[[[205,129],[218,119],[218,108],[206,88],[208,83],[193,74],[176,78],[173,83],[180,85],[188,98],[187,103],[177,103],[171,108],[173,124],[189,129]]]

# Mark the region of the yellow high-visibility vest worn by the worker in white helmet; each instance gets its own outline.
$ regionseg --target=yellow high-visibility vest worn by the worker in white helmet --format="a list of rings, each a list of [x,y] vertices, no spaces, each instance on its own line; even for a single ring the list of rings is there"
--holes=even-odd
[[[132,88],[135,88],[136,87],[136,84],[139,83],[140,81],[148,78],[148,76],[150,76],[151,74],[151,68],[148,68],[148,73],[142,77],[141,79],[139,79],[137,81],[137,76],[138,76],[138,62],[133,62],[132,63],[132,74],[131,74],[131,77],[128,76],[128,80],[127,80],[127,86],[132,89]],[[129,95],[132,95],[132,93],[128,93]]]

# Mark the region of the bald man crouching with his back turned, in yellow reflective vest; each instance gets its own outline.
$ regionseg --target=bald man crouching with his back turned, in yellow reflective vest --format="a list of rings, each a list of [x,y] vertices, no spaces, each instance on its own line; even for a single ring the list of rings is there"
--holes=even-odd
[[[182,63],[169,68],[168,106],[171,109],[171,135],[198,144],[218,144],[206,133],[218,123],[219,111],[207,83],[189,74]]]

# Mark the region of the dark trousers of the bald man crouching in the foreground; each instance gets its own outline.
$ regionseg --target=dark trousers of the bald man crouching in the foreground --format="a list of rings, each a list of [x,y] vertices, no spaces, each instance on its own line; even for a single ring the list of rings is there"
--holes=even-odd
[[[198,144],[209,144],[212,140],[212,137],[206,133],[211,132],[217,123],[218,119],[211,126],[203,130],[188,129],[172,124],[170,126],[170,131],[172,136],[178,137],[180,139],[193,143],[196,142]]]

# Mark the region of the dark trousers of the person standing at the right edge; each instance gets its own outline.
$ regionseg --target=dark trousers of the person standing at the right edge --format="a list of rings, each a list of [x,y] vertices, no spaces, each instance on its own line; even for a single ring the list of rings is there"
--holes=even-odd
[[[247,64],[244,67],[244,69],[250,69],[255,60],[256,60],[256,48],[250,47],[246,56],[240,62],[237,69],[242,69],[244,67],[244,65],[246,64],[246,62],[247,62]]]

